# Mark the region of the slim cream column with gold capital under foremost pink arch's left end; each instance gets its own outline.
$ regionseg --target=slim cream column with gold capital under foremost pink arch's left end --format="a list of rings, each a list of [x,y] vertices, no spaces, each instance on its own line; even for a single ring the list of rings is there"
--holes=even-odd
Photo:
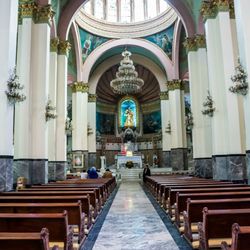
[[[56,180],[66,178],[67,136],[65,123],[67,117],[67,72],[68,52],[71,45],[68,41],[59,41],[57,56],[57,98],[56,98]]]

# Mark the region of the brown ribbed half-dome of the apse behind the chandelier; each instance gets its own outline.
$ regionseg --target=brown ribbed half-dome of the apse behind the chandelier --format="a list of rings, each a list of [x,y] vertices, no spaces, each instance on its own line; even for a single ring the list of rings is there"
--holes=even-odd
[[[142,91],[135,95],[139,103],[147,103],[159,99],[160,87],[155,76],[142,65],[135,65],[135,68],[139,77],[144,80]],[[116,104],[119,101],[121,96],[115,94],[110,87],[110,81],[116,77],[117,70],[118,65],[115,65],[108,69],[100,78],[96,90],[99,102]]]

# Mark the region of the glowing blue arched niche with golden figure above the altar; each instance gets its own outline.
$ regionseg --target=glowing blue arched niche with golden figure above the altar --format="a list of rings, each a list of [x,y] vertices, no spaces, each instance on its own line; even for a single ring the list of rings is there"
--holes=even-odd
[[[119,101],[118,119],[121,128],[137,128],[139,126],[139,105],[134,97],[125,96]]]

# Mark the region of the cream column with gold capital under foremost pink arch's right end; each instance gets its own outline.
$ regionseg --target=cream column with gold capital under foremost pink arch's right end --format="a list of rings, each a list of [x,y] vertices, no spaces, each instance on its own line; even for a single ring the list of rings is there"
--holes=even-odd
[[[193,157],[195,173],[212,178],[211,118],[202,114],[202,104],[209,89],[206,40],[204,35],[185,41],[188,52],[191,109],[193,114]]]

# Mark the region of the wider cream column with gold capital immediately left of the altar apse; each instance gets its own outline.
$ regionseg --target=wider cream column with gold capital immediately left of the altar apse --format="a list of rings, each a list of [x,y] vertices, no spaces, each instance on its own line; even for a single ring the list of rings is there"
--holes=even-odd
[[[75,82],[72,86],[72,151],[84,157],[88,166],[88,91],[87,83]]]

